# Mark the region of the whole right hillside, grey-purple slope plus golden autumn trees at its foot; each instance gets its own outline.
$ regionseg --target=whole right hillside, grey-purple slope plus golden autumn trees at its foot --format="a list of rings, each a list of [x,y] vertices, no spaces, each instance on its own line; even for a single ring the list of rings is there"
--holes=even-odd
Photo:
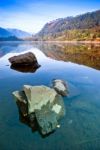
[[[36,36],[43,40],[73,40],[81,39],[82,35],[84,40],[85,37],[94,38],[97,33],[100,38],[100,10],[51,21]]]

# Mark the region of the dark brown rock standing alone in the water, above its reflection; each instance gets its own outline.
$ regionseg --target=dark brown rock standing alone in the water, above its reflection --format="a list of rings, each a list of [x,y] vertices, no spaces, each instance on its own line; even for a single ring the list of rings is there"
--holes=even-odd
[[[18,56],[13,56],[9,58],[9,61],[12,66],[33,65],[34,67],[39,67],[39,64],[37,62],[35,55],[31,52],[21,54]]]

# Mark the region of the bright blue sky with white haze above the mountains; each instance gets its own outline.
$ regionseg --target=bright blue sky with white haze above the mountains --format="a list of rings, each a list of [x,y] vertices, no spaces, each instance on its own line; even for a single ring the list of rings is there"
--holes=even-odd
[[[37,33],[45,23],[100,9],[100,0],[0,0],[0,27]]]

